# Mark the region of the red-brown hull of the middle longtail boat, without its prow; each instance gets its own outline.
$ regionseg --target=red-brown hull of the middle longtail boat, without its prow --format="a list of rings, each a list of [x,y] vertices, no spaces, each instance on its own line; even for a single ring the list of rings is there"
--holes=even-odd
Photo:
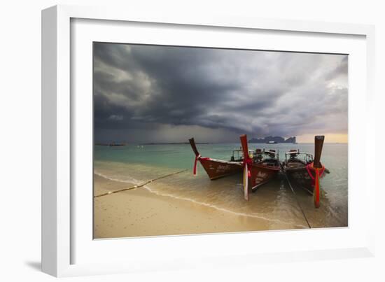
[[[278,174],[280,168],[272,167],[263,164],[251,164],[248,168],[250,176],[248,176],[248,186],[252,191],[267,183],[276,174]]]

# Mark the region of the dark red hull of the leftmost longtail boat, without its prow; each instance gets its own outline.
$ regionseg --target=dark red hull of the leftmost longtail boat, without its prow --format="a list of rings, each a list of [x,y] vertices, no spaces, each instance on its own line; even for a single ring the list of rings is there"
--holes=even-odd
[[[241,162],[225,162],[210,158],[200,158],[199,161],[211,180],[238,174],[243,171]]]

